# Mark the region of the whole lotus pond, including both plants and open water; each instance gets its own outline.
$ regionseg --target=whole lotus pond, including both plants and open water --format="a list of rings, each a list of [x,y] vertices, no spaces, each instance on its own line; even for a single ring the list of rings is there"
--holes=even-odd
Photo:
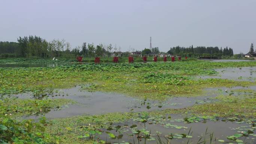
[[[256,61],[0,68],[0,144],[255,144]]]

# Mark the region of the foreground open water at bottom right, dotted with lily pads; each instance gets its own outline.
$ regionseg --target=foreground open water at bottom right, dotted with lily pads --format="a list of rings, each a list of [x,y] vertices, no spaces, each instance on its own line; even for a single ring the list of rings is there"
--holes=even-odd
[[[188,140],[189,143],[196,144],[200,137],[204,137],[207,129],[206,139],[209,143],[210,132],[213,132],[213,141],[216,138],[218,140],[228,140],[228,136],[235,134],[243,134],[249,131],[247,135],[237,138],[243,140],[249,144],[256,143],[255,125],[247,124],[246,122],[228,121],[228,120],[201,120],[200,122],[185,123],[184,119],[180,118],[178,114],[170,115],[171,118],[166,119],[151,119],[148,120],[145,125],[143,122],[130,120],[123,123],[114,123],[107,129],[102,129],[103,133],[100,138],[109,144],[117,143],[130,143],[139,144],[144,143],[145,133],[143,132],[146,126],[147,135],[146,144],[156,144],[157,134],[159,138],[167,144],[167,140],[170,140],[171,144],[185,144]],[[187,137],[191,128],[191,134]],[[250,130],[249,130],[250,129]],[[115,138],[110,138],[107,132],[111,132],[115,135]],[[242,133],[243,132],[243,133]],[[78,134],[79,135],[79,134]],[[191,137],[192,136],[192,137]]]

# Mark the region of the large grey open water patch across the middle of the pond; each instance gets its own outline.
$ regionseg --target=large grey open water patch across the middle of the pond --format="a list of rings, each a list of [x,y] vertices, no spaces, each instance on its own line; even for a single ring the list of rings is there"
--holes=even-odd
[[[215,101],[211,98],[215,94],[198,97],[174,97],[167,101],[156,101],[149,99],[137,99],[121,94],[105,93],[105,92],[88,92],[80,90],[80,86],[71,89],[63,89],[52,93],[46,97],[48,99],[71,99],[77,104],[64,106],[60,110],[51,110],[47,113],[39,115],[30,115],[24,119],[37,119],[43,114],[48,119],[71,117],[81,114],[103,114],[113,112],[141,112],[164,110],[166,108],[185,108],[194,104],[202,104],[205,102]],[[18,98],[33,98],[31,93],[13,95]]]

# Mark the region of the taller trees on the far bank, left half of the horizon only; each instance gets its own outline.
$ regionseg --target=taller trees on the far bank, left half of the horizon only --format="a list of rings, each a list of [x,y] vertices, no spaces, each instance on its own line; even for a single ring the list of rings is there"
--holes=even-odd
[[[41,57],[41,58],[75,58],[76,56],[128,56],[129,52],[121,52],[121,47],[109,45],[94,45],[83,43],[71,49],[71,45],[61,40],[47,42],[39,36],[24,36],[17,39],[18,42],[0,42],[0,58],[8,57]]]

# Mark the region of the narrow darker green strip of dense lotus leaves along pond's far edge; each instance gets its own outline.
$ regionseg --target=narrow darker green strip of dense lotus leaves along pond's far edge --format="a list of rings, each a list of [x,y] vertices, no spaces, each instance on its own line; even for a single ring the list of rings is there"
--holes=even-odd
[[[67,65],[56,69],[77,70],[77,71],[155,71],[155,70],[177,70],[186,74],[214,74],[213,68],[222,67],[246,67],[255,66],[256,62],[204,62],[204,61],[188,61],[188,62],[164,62],[164,63],[109,63],[109,64],[84,64],[84,65]]]

